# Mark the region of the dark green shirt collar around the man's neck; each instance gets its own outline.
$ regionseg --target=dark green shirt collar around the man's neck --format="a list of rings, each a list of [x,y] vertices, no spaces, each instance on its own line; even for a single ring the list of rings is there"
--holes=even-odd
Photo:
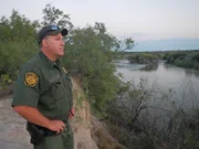
[[[41,60],[49,66],[49,67],[54,67],[60,65],[60,60],[57,58],[56,61],[51,61],[49,57],[40,51],[39,53]]]

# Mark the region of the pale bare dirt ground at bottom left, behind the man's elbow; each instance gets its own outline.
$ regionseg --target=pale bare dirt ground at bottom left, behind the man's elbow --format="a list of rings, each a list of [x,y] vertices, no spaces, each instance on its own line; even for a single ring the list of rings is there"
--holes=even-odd
[[[0,149],[32,149],[25,120],[11,107],[11,97],[0,99]]]

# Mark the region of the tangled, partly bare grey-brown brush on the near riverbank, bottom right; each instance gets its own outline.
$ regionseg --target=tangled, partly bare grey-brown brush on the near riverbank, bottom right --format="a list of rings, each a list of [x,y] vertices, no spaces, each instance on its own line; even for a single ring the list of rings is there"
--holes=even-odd
[[[127,83],[109,102],[106,114],[113,136],[128,149],[198,149],[198,108],[182,108],[186,99],[192,102],[192,94],[184,93],[177,104],[175,91],[165,93],[156,83],[149,86],[147,82],[140,78],[137,86]],[[187,92],[191,92],[190,86],[186,84]],[[154,106],[147,100],[163,104]]]

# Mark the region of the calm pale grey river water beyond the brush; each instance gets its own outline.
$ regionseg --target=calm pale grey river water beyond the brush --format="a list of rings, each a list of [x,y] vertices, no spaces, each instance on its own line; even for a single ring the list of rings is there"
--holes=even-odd
[[[117,74],[123,75],[124,82],[134,82],[138,85],[140,78],[147,79],[148,87],[156,84],[161,93],[169,94],[169,102],[150,100],[150,104],[170,108],[170,104],[185,109],[199,108],[199,72],[181,68],[174,65],[159,64],[154,68],[144,70],[145,65],[129,64],[128,61],[119,61],[116,64]]]

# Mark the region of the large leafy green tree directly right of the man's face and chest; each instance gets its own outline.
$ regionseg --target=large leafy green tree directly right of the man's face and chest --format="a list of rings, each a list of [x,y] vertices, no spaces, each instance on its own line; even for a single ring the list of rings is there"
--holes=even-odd
[[[100,108],[117,92],[118,79],[112,63],[115,46],[116,38],[106,32],[103,23],[73,30],[66,42],[66,65],[81,76],[91,102]]]

